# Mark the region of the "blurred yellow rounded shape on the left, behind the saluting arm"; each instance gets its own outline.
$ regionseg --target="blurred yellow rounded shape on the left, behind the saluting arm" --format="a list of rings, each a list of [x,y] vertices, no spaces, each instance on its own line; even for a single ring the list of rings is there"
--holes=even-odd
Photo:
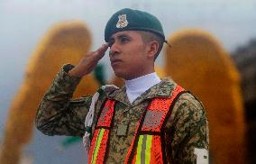
[[[32,138],[35,113],[52,79],[63,64],[77,64],[90,45],[91,36],[86,24],[77,21],[59,23],[44,35],[29,59],[23,83],[11,104],[1,163],[19,162],[23,146]],[[88,75],[80,82],[74,95],[93,94],[98,87],[96,79]]]

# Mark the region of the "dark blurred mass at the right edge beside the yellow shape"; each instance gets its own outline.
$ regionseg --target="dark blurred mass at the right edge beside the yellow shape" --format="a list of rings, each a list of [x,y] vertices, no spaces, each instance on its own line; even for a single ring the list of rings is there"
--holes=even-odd
[[[256,39],[251,40],[232,54],[237,68],[242,75],[242,95],[244,99],[248,163],[256,163]]]

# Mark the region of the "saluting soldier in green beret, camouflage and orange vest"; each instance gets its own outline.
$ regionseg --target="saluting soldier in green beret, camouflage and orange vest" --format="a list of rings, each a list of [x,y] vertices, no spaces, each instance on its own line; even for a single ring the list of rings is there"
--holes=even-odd
[[[85,136],[88,163],[207,163],[203,105],[154,71],[166,42],[160,21],[146,12],[122,9],[106,23],[105,41],[78,65],[61,68],[41,101],[37,128],[47,135],[90,134]],[[80,79],[108,47],[114,74],[125,80],[124,87],[102,87],[95,96],[71,100]]]

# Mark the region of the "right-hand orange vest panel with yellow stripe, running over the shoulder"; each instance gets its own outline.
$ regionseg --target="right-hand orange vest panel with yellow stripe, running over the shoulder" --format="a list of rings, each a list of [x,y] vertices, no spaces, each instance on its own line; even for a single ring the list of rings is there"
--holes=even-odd
[[[173,100],[178,96],[179,93],[184,91],[182,87],[177,86],[172,96],[166,97],[156,97],[153,98],[150,105],[147,107],[144,114],[137,125],[137,129],[134,133],[132,144],[127,152],[125,163],[144,163],[146,161],[146,156],[143,151],[143,140],[141,134],[151,133],[151,155],[150,163],[164,163],[160,133],[162,132],[162,125],[169,115],[170,105],[172,105]],[[155,133],[154,133],[155,132]],[[148,143],[149,144],[149,143]],[[135,148],[136,147],[136,148]],[[148,159],[147,159],[148,161]]]

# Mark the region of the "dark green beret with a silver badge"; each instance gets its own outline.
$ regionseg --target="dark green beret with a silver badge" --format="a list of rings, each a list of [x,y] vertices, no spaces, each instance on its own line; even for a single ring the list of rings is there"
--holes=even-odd
[[[164,32],[158,18],[139,10],[124,8],[113,14],[105,25],[105,42],[108,42],[115,32],[122,31],[153,32],[165,41]]]

